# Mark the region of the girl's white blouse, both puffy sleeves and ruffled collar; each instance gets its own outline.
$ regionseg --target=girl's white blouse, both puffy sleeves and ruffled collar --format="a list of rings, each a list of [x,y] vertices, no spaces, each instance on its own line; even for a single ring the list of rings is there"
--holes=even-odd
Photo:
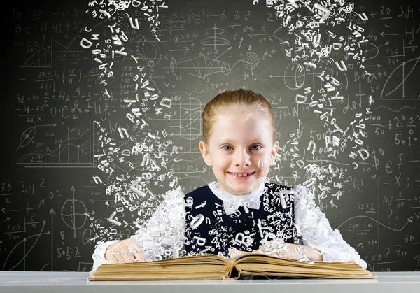
[[[244,202],[259,199],[264,191],[260,187],[248,194],[234,195],[221,190],[216,182],[209,184],[211,191],[223,201],[227,214],[235,213]],[[294,194],[295,226],[302,238],[302,244],[320,250],[323,262],[352,260],[366,269],[367,264],[360,258],[358,252],[344,241],[339,230],[331,228],[325,214],[316,206],[314,194],[303,185],[296,185],[290,193]],[[156,208],[147,224],[131,236],[132,241],[141,243],[141,248],[146,252],[147,261],[162,259],[163,253],[168,250],[174,251],[170,257],[176,257],[176,252],[179,252],[185,243],[186,203],[184,196],[182,187],[162,194],[164,201]],[[228,204],[225,205],[225,203]],[[94,270],[101,264],[109,263],[105,259],[106,249],[117,241],[97,242],[92,255]]]

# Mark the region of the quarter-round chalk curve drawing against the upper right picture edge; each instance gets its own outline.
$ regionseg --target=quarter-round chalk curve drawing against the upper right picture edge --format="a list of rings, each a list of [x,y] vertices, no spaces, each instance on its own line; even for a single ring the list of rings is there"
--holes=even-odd
[[[405,83],[407,78],[409,78],[409,76],[412,76],[412,78],[414,78],[414,82],[413,84],[416,85],[416,76],[419,76],[419,74],[414,74],[412,73],[414,71],[414,69],[416,69],[417,64],[419,63],[420,60],[420,56],[413,58],[411,60],[408,60],[407,62],[402,62],[399,66],[397,66],[392,72],[391,74],[388,76],[388,78],[386,79],[386,82],[384,84],[384,87],[382,87],[382,91],[381,91],[381,100],[386,100],[386,99],[405,99],[408,100],[410,98],[405,98]],[[409,73],[405,73],[405,71],[409,71]],[[417,69],[418,71],[418,69]],[[395,76],[394,76],[395,73]],[[395,81],[395,82],[399,82],[397,86],[393,85],[393,84],[389,84],[388,85],[388,81]],[[400,91],[395,92],[396,90],[400,89]],[[414,90],[414,89],[413,89]],[[416,89],[418,90],[418,89]],[[397,98],[387,98],[390,94],[392,94],[393,92],[395,92],[395,94],[398,94]],[[410,90],[409,91],[411,95],[413,95],[414,93]],[[385,94],[384,94],[385,93]],[[419,92],[415,93],[417,95],[417,97],[415,99],[420,99],[420,94]],[[412,98],[414,99],[414,98]],[[410,100],[412,100],[410,99]]]

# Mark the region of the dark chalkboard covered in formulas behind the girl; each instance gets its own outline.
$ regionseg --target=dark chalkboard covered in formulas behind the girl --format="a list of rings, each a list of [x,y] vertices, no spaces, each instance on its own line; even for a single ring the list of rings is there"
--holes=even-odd
[[[418,1],[18,1],[3,25],[0,268],[89,271],[176,186],[215,180],[206,103],[267,97],[270,176],[371,271],[420,269]]]

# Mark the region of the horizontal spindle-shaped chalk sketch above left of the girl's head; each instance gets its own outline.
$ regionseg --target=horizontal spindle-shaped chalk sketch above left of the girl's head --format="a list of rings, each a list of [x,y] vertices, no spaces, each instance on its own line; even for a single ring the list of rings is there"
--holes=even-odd
[[[205,79],[213,73],[229,72],[230,65],[227,62],[211,59],[200,53],[198,57],[191,59],[190,57],[183,57],[178,62],[172,57],[170,69],[174,76],[176,74],[189,74]]]

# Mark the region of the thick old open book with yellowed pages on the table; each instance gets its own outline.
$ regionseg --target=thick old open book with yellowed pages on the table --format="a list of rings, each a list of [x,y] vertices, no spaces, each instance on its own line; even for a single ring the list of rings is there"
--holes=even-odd
[[[297,262],[270,255],[248,253],[232,259],[194,255],[157,262],[102,264],[88,280],[218,280],[242,275],[293,278],[375,278],[358,264],[344,262]]]

